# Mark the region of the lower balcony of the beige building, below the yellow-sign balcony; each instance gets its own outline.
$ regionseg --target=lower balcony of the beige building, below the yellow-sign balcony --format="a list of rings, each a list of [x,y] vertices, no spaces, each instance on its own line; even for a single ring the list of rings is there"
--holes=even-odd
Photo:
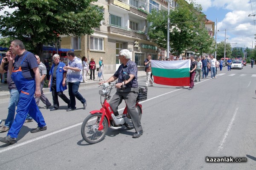
[[[118,27],[110,24],[108,26],[108,33],[110,34],[116,34],[116,35],[122,35],[127,36],[131,38],[138,38],[138,39],[144,39],[147,40],[147,36],[143,31],[134,31],[128,28]]]

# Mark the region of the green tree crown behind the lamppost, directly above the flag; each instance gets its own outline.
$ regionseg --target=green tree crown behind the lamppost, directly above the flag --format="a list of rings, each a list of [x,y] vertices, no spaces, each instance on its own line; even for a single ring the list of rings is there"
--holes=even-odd
[[[203,21],[201,6],[195,3],[188,4],[184,0],[177,2],[179,6],[170,11],[169,42],[171,52],[181,54],[184,50],[192,47],[192,40],[198,35],[197,30]],[[157,45],[167,48],[167,21],[168,12],[153,10],[147,20],[151,23],[148,36]]]

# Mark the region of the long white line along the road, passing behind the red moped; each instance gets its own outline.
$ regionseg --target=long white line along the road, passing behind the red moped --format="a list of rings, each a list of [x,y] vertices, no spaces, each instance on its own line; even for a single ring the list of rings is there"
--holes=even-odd
[[[205,80],[203,80],[203,81],[201,81],[201,82],[205,82],[205,81],[207,81],[207,80],[209,80],[209,79],[205,79]],[[201,83],[201,82],[197,82],[197,83],[195,83],[195,84],[198,84],[198,83]],[[186,86],[186,87],[189,87],[189,86]],[[179,90],[181,90],[181,89],[183,89],[183,88],[177,89],[177,90],[175,90],[175,91],[179,91]],[[161,94],[161,95],[152,97],[152,98],[147,99],[147,100],[144,100],[144,101],[142,101],[142,102],[140,102],[140,103],[147,102],[147,101],[149,101],[149,100],[155,99],[155,98],[160,97],[160,96],[164,96],[164,95],[166,95],[166,94],[170,94],[170,93],[175,92],[175,91],[170,91],[170,92],[168,92],[168,93],[165,93],[165,94]],[[125,109],[125,108],[120,108],[120,109],[118,109],[118,111],[122,111],[122,110],[124,110],[124,109]],[[57,130],[57,131],[52,132],[52,133],[48,133],[48,134],[43,135],[43,136],[39,136],[39,137],[37,137],[37,138],[35,138],[35,139],[31,139],[31,140],[28,140],[28,141],[26,141],[26,142],[22,142],[22,143],[20,143],[20,144],[11,145],[10,147],[6,147],[5,149],[0,150],[0,153],[3,153],[3,152],[5,152],[5,151],[11,150],[11,149],[14,149],[14,148],[16,148],[16,147],[20,147],[20,146],[22,146],[22,145],[24,145],[24,144],[29,144],[29,143],[34,142],[34,141],[37,141],[37,140],[39,140],[39,139],[46,138],[46,137],[48,137],[48,136],[52,136],[52,135],[54,135],[54,134],[56,134],[56,133],[60,133],[60,132],[62,132],[62,131],[64,131],[64,130],[69,130],[69,129],[73,128],[73,127],[80,126],[80,125],[82,125],[82,123],[83,123],[83,122],[77,123],[76,125],[72,125],[72,126],[69,126],[69,127],[64,128],[64,129]]]

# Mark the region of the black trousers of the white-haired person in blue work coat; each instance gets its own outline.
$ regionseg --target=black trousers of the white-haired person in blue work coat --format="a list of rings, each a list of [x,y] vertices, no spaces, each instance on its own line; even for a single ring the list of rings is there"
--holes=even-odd
[[[56,82],[52,80],[52,101],[53,101],[53,106],[54,108],[59,108],[59,102],[58,102],[58,96],[67,104],[69,104],[70,99],[67,98],[65,94],[63,94],[63,91],[58,91],[56,90]]]

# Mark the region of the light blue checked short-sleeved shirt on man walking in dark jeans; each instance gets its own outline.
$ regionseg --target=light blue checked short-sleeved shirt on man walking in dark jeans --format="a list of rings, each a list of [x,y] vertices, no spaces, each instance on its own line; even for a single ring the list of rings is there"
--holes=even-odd
[[[83,81],[83,65],[81,59],[74,57],[70,60],[68,66],[73,68],[79,68],[80,71],[67,70],[67,82],[82,82]]]

